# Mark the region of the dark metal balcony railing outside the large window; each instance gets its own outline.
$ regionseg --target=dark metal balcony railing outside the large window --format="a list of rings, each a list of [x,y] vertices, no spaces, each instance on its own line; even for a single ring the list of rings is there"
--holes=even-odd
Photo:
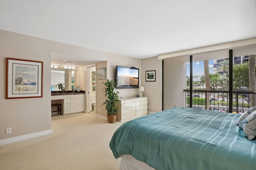
[[[210,93],[210,98],[206,99],[206,93]],[[190,107],[190,90],[184,90],[186,107]],[[215,111],[243,113],[251,106],[250,101],[256,100],[256,93],[248,91],[233,91],[232,99],[229,99],[229,91],[222,90],[193,90],[192,107],[206,109],[206,101],[209,100],[209,109]],[[232,102],[232,111],[229,108]],[[254,102],[254,106],[255,106]]]

